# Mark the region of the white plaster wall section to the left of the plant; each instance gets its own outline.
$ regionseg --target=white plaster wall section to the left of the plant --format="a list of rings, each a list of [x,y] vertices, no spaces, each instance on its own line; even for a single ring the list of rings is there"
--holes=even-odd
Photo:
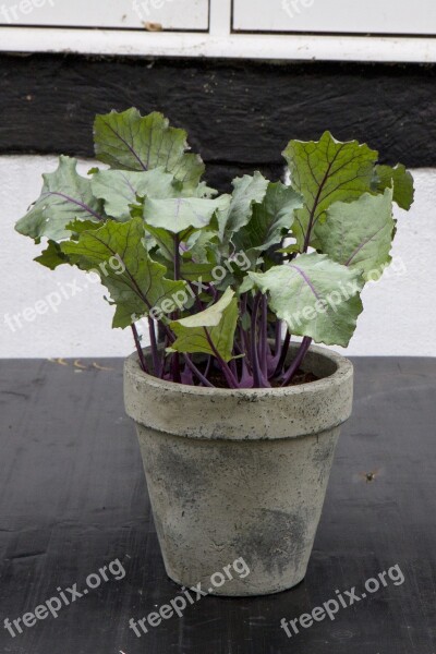
[[[81,161],[78,171],[86,173],[94,165]],[[57,157],[0,157],[0,356],[123,356],[134,350],[130,329],[111,329],[113,308],[102,299],[104,287],[88,283],[87,276],[71,266],[51,271],[33,259],[44,245],[14,230],[15,221],[40,194],[41,174],[57,168]],[[76,282],[82,291],[73,290]],[[87,284],[84,288],[84,284]],[[56,311],[38,315],[33,322],[13,316],[38,300],[60,293],[62,302]],[[63,293],[68,298],[63,296]],[[15,331],[5,324],[12,318]]]

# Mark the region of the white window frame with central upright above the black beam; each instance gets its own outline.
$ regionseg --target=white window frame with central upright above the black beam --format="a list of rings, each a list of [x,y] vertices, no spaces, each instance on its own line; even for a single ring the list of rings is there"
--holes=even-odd
[[[231,0],[209,0],[209,32],[0,27],[0,50],[132,57],[436,62],[436,37],[235,34]]]

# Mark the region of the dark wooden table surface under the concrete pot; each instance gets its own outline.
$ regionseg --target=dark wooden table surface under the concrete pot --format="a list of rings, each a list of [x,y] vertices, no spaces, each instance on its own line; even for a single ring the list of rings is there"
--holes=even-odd
[[[0,651],[11,654],[435,654],[436,360],[358,359],[305,581],[268,597],[204,597],[148,633],[129,628],[179,593],[165,574],[138,446],[122,403],[122,362],[0,362]],[[373,474],[375,473],[375,476]],[[365,476],[367,474],[367,476]],[[367,481],[372,480],[373,481]],[[123,579],[33,627],[4,628],[72,597],[119,559]],[[365,600],[301,629],[292,620],[399,566]],[[108,576],[108,572],[106,573]],[[121,574],[118,574],[121,577]],[[95,577],[92,578],[95,581]],[[43,614],[41,614],[43,615]],[[28,622],[32,619],[27,618]],[[20,622],[19,622],[20,625]]]

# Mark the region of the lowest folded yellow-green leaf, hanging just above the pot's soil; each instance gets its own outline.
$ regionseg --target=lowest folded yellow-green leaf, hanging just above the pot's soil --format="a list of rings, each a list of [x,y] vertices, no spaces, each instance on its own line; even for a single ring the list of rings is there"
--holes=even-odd
[[[177,336],[171,349],[192,354],[216,355],[218,352],[225,361],[230,361],[237,322],[238,301],[234,291],[229,288],[218,302],[205,311],[170,323]]]

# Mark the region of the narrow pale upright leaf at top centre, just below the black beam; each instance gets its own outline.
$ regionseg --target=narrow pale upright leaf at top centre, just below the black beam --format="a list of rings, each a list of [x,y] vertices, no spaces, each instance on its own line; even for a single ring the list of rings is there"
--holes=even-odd
[[[219,237],[230,240],[232,234],[249,223],[253,214],[253,204],[264,199],[268,180],[261,172],[244,174],[232,182],[233,193],[230,205],[218,214]]]

